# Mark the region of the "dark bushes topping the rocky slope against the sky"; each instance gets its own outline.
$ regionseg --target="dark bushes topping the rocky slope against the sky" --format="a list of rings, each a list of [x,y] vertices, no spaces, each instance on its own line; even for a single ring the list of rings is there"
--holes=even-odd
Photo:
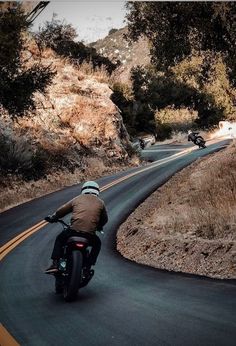
[[[94,69],[105,66],[111,74],[118,64],[99,55],[95,48],[87,47],[82,42],[75,42],[76,30],[71,24],[57,20],[55,16],[51,22],[46,22],[43,28],[35,35],[35,39],[42,49],[52,48],[57,54],[69,58],[74,64],[92,63]]]

